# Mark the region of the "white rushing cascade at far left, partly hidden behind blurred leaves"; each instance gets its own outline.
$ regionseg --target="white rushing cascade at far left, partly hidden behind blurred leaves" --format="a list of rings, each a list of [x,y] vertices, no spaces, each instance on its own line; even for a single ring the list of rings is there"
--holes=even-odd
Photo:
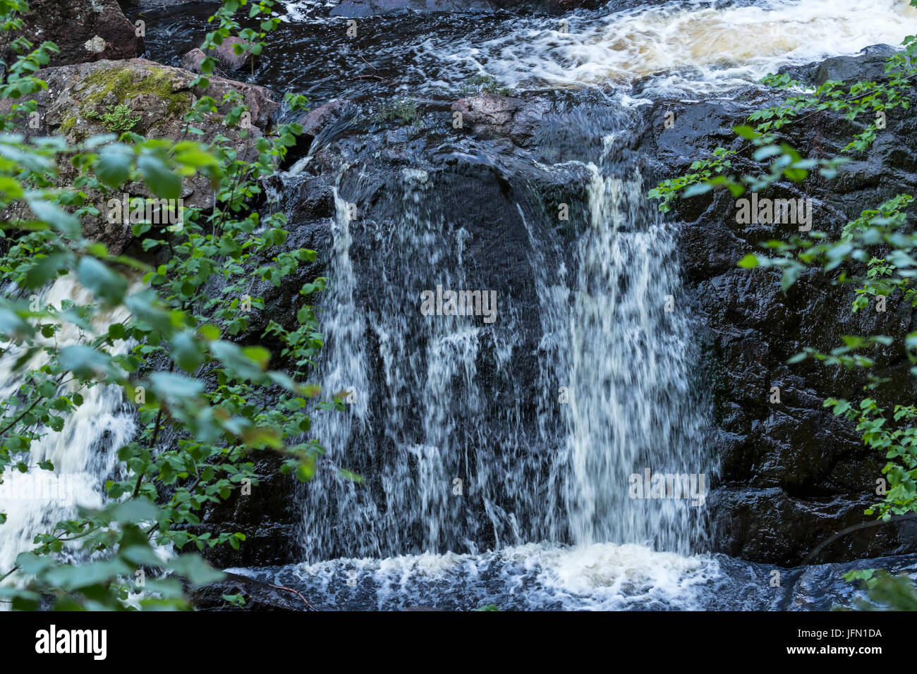
[[[9,290],[7,290],[9,292]],[[62,276],[37,297],[44,306],[61,308],[61,303],[94,304],[93,294],[77,284],[71,276]],[[102,333],[109,325],[127,320],[127,311],[119,307],[94,316],[92,324]],[[58,348],[83,342],[88,336],[72,323],[62,322],[60,331],[45,339]],[[41,339],[41,337],[39,337]],[[119,342],[115,353],[127,352]],[[6,347],[0,357],[0,394],[14,397],[29,370],[48,362],[48,355],[37,352],[25,366],[14,371],[22,348]],[[75,384],[61,382],[58,393],[73,391]],[[31,466],[27,473],[14,468],[3,475],[0,485],[0,513],[6,513],[6,524],[0,525],[0,573],[12,569],[17,555],[32,548],[32,538],[50,533],[61,519],[74,517],[76,506],[99,508],[105,503],[105,480],[119,479],[121,470],[117,448],[126,445],[136,433],[134,414],[117,386],[98,385],[82,389],[83,404],[65,417],[63,428],[45,428],[45,435],[33,442],[28,454],[20,457]],[[14,459],[15,460],[15,459]],[[50,460],[53,471],[40,470],[37,464]],[[13,576],[8,581],[16,581]]]

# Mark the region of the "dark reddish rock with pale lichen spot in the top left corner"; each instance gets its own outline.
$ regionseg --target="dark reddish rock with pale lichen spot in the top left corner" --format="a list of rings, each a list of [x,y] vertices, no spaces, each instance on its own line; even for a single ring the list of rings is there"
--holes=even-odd
[[[57,44],[50,65],[69,65],[102,59],[131,59],[143,53],[143,38],[127,20],[116,0],[32,0],[23,17],[20,35],[37,47]],[[5,51],[4,58],[12,55]]]

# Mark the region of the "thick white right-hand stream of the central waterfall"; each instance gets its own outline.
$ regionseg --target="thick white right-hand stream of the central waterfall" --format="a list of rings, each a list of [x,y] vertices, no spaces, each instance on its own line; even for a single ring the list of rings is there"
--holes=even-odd
[[[703,484],[712,472],[701,443],[705,408],[691,385],[691,323],[676,304],[677,231],[646,204],[639,175],[590,169],[590,222],[578,241],[563,360],[572,538],[687,554],[703,535],[700,500],[634,499],[625,489],[646,470],[703,475]]]

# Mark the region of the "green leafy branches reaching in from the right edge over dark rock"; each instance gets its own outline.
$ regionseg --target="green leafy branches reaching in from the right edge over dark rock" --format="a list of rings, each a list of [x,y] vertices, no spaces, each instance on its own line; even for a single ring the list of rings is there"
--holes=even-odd
[[[917,6],[917,0],[911,0]],[[713,160],[695,161],[692,173],[661,182],[648,196],[659,200],[662,212],[670,210],[679,198],[706,193],[716,187],[725,187],[735,196],[750,189],[761,192],[771,184],[783,180],[801,183],[809,172],[818,168],[823,177],[834,177],[841,158],[802,160],[799,152],[788,144],[780,142],[777,132],[789,124],[799,123],[812,114],[833,110],[848,120],[861,121],[867,117],[864,130],[846,145],[844,151],[867,151],[884,128],[886,111],[896,107],[907,109],[910,105],[912,82],[917,78],[917,36],[904,39],[903,50],[896,52],[886,62],[887,83],[855,83],[845,88],[839,82],[827,82],[812,91],[801,91],[791,95],[782,104],[758,110],[749,116],[756,127],[735,127],[735,133],[744,142],[735,149],[713,150]],[[769,75],[764,83],[781,89],[803,89],[787,75]],[[733,173],[732,161],[740,152],[754,148],[753,160],[770,160],[767,173],[737,176]],[[911,194],[898,194],[878,208],[864,210],[841,232],[837,240],[825,232],[812,231],[804,235],[793,235],[789,241],[770,240],[761,246],[767,255],[748,254],[738,265],[742,268],[772,267],[781,271],[781,285],[784,291],[813,267],[831,273],[832,282],[854,283],[856,292],[852,312],[861,311],[870,302],[885,302],[893,293],[899,293],[902,302],[917,306],[917,290],[914,277],[917,276],[917,235],[907,222],[907,209],[911,205]],[[894,340],[885,335],[867,337],[844,336],[844,345],[823,353],[815,348],[803,351],[788,362],[813,358],[826,365],[847,369],[869,369],[875,360],[864,353],[866,349],[888,348]],[[917,376],[917,332],[912,332],[901,345],[911,361],[911,375]],[[875,389],[889,380],[867,370],[866,390]],[[829,398],[824,406],[832,407],[834,414],[844,415],[856,421],[856,429],[863,443],[884,453],[888,462],[882,470],[888,480],[889,489],[881,503],[868,508],[865,514],[876,514],[888,521],[893,515],[917,512],[917,408],[908,403],[894,405],[891,419],[885,410],[872,398],[867,397],[858,405],[844,399]],[[867,575],[858,575],[858,574]],[[888,573],[873,571],[852,572],[846,580],[866,580],[869,605],[885,604],[891,608],[917,608],[917,591],[907,576],[889,576]]]

